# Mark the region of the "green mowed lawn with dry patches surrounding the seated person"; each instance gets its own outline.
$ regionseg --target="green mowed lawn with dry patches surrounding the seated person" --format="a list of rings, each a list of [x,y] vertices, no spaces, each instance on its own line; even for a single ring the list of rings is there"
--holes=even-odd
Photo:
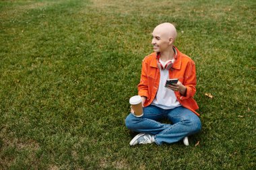
[[[0,1],[0,169],[255,169],[255,16],[253,0]],[[202,131],[131,147],[162,22],[196,62]]]

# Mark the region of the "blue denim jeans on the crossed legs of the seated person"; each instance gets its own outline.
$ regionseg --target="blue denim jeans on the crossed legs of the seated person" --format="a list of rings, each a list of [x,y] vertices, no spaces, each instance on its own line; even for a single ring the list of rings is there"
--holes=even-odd
[[[172,124],[158,122],[163,118],[167,118]],[[125,125],[135,132],[154,135],[158,145],[163,142],[178,142],[185,136],[195,134],[201,130],[199,117],[183,106],[164,110],[156,105],[148,105],[143,108],[143,116],[139,118],[129,114],[125,119]]]

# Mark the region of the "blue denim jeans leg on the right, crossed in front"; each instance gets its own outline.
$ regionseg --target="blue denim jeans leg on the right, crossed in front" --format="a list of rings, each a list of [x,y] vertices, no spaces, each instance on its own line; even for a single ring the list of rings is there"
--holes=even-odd
[[[183,106],[169,110],[167,117],[173,124],[155,135],[157,144],[178,142],[185,136],[201,130],[201,121],[198,116]]]

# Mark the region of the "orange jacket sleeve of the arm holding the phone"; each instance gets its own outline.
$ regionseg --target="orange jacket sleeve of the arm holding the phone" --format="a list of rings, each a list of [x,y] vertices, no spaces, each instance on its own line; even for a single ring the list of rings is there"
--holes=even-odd
[[[181,97],[181,100],[188,99],[189,97],[193,97],[195,95],[195,86],[197,85],[196,72],[195,72],[195,62],[191,60],[187,64],[187,68],[185,71],[183,85],[187,88],[187,93],[185,96]]]

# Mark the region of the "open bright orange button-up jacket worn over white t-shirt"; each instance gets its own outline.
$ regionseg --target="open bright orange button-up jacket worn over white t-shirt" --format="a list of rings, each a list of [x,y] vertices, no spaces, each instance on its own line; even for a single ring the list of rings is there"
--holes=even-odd
[[[184,108],[191,110],[199,116],[199,114],[195,112],[195,110],[198,109],[197,102],[193,99],[196,91],[195,85],[197,83],[195,62],[189,58],[189,56],[181,53],[176,47],[174,48],[177,50],[177,58],[172,68],[169,70],[169,78],[178,78],[179,81],[187,87],[187,94],[183,96],[179,91],[174,91],[174,93]],[[142,61],[141,79],[138,85],[139,95],[147,97],[144,103],[145,107],[150,105],[156,97],[159,83],[160,70],[157,67],[156,52],[153,52]]]

